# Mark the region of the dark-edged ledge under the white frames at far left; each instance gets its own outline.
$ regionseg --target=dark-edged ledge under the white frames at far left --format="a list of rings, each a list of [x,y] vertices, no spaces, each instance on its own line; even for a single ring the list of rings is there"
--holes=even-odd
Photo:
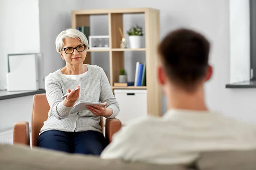
[[[0,100],[3,99],[12,99],[15,97],[23,97],[23,96],[30,96],[35,94],[43,94],[45,93],[44,89],[39,89],[37,91],[0,91]]]

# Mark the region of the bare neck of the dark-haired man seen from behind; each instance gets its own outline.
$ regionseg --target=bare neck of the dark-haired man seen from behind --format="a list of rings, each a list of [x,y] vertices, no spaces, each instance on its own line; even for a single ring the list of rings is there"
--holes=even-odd
[[[181,89],[169,88],[167,92],[168,109],[184,109],[194,111],[208,111],[204,101],[204,88],[193,93]]]

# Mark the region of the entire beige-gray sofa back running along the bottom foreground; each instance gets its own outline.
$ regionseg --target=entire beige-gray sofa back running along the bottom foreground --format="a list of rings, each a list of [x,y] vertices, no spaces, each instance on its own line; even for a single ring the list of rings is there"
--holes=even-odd
[[[191,164],[157,165],[0,144],[0,170],[256,170],[256,150],[200,153]]]

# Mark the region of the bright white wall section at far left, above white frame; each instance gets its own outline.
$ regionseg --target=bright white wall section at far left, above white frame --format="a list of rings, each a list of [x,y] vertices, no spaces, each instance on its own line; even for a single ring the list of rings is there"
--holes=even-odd
[[[0,90],[6,89],[7,54],[39,53],[38,0],[0,1]]]

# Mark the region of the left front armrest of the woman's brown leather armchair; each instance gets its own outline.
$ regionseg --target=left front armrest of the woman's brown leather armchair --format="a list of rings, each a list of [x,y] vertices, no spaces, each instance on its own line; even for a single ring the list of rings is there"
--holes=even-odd
[[[25,144],[30,146],[29,122],[19,121],[13,129],[13,144]]]

